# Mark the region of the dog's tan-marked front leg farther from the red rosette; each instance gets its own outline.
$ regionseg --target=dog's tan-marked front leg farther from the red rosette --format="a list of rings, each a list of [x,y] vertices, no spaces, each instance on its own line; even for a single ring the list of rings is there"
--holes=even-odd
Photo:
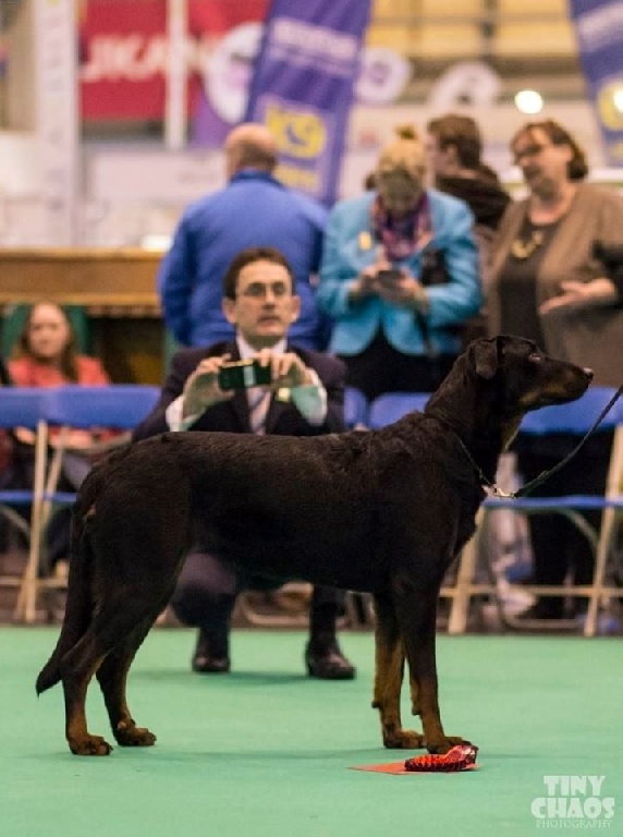
[[[424,747],[423,736],[402,728],[400,692],[404,674],[404,643],[393,603],[375,596],[376,671],[372,707],[379,709],[383,744],[388,748]],[[412,687],[413,693],[413,687]]]

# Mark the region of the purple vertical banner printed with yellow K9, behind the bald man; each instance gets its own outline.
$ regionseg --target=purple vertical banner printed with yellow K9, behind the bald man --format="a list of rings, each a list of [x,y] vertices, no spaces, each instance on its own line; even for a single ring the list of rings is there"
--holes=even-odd
[[[273,0],[254,66],[245,121],[277,137],[277,177],[329,205],[369,16],[369,0]]]

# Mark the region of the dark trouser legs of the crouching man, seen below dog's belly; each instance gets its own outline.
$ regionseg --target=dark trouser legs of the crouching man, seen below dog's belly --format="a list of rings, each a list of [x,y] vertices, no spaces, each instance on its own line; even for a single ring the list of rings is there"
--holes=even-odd
[[[184,562],[171,606],[185,624],[200,628],[216,657],[228,656],[231,616],[243,590],[274,590],[279,582],[236,573],[218,556],[193,551]],[[309,641],[327,647],[335,641],[335,622],[344,604],[344,592],[315,586],[309,609]]]

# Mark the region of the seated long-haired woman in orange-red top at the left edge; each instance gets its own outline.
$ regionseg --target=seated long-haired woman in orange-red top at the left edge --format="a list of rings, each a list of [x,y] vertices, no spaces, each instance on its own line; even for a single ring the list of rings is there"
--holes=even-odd
[[[58,387],[64,384],[106,386],[110,383],[100,361],[78,354],[76,339],[70,319],[63,308],[54,302],[38,302],[30,308],[24,328],[20,333],[11,360],[9,375],[17,387]],[[90,469],[89,450],[102,437],[113,435],[102,429],[97,436],[88,430],[72,429],[65,436],[68,453],[63,461],[64,485],[77,488]],[[34,442],[30,430],[20,429],[16,438],[21,444],[21,456],[28,457],[28,447]],[[58,440],[52,434],[50,444]],[[32,473],[28,473],[28,481]],[[62,487],[62,485],[61,485]],[[54,566],[69,554],[69,527],[71,510],[63,509],[56,514],[48,531],[48,562]]]

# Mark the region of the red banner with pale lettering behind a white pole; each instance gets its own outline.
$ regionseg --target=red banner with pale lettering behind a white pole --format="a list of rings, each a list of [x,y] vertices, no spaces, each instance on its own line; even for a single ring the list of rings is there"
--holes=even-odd
[[[268,0],[188,0],[191,114],[203,96],[219,44],[235,27],[244,29],[241,24],[261,22],[267,5]],[[89,0],[85,9],[80,26],[83,119],[162,120],[168,72],[166,0]]]

